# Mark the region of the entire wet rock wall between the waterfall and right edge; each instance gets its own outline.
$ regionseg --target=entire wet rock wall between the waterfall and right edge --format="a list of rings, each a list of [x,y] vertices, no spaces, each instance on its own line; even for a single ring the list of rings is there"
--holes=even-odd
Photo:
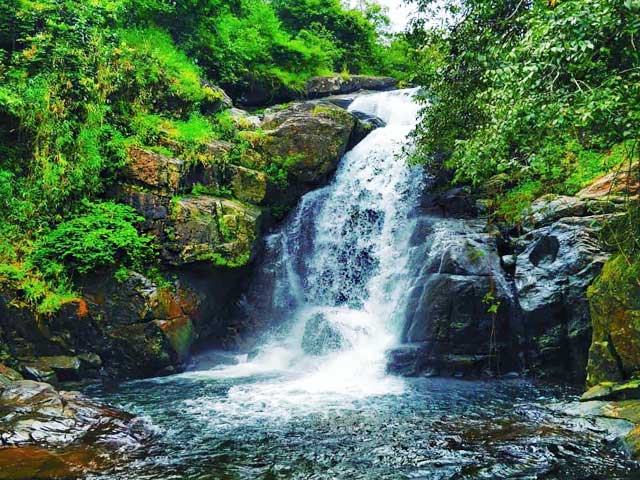
[[[599,231],[638,193],[637,182],[604,175],[576,196],[538,199],[520,229],[488,224],[484,202],[463,188],[425,194],[411,244],[416,281],[405,344],[389,352],[389,370],[527,371],[576,383],[588,374],[589,385],[637,378],[640,340],[631,325],[640,291],[622,295],[594,280],[610,257]]]

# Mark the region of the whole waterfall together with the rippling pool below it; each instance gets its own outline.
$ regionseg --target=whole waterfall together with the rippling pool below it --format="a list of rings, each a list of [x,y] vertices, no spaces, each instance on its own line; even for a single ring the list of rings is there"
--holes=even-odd
[[[547,408],[571,391],[385,373],[422,186],[403,156],[413,93],[357,98],[350,109],[387,126],[267,239],[244,302],[271,327],[256,351],[204,354],[180,375],[90,390],[158,432],[149,451],[91,478],[633,478],[601,426]]]

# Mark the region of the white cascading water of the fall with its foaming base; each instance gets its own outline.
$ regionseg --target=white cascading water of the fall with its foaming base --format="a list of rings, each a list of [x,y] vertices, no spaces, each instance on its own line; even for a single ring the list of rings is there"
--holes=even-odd
[[[251,360],[184,374],[193,378],[264,380],[232,387],[225,400],[190,402],[194,413],[288,416],[319,405],[403,391],[385,374],[385,351],[397,343],[409,288],[409,214],[420,175],[403,156],[419,106],[414,90],[357,98],[350,110],[376,115],[387,126],[369,134],[342,159],[334,181],[306,195],[280,232],[268,239],[279,276],[273,304],[288,319]],[[259,279],[258,279],[259,281]],[[321,314],[345,339],[339,351],[305,353],[305,324]],[[266,313],[265,313],[266,315]],[[283,323],[284,319],[273,319]],[[320,345],[319,347],[322,347]],[[251,413],[249,413],[251,412]]]

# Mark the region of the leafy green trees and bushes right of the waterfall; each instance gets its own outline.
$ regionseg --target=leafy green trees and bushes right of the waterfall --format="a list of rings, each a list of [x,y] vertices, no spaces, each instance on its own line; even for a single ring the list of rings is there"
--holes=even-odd
[[[409,37],[431,104],[416,159],[450,168],[491,200],[496,220],[517,224],[539,196],[575,194],[637,162],[640,2],[413,3],[447,10],[443,25],[416,22]],[[604,231],[638,281],[636,203]]]

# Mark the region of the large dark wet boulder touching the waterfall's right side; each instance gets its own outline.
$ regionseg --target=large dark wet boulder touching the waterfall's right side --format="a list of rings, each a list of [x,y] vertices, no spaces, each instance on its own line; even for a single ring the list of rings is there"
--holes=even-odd
[[[405,375],[478,375],[513,368],[513,301],[497,237],[479,220],[421,219],[402,340],[389,370]]]

